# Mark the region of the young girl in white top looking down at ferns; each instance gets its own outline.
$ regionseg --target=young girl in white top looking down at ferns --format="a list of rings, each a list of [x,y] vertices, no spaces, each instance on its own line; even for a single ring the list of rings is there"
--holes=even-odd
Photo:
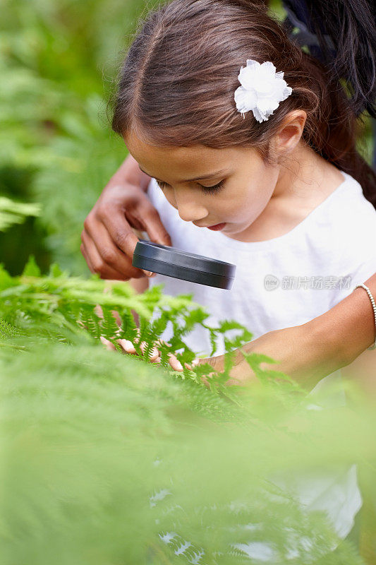
[[[350,102],[264,4],[174,0],[152,12],[124,61],[113,129],[152,178],[173,246],[236,263],[230,292],[149,280],[192,293],[214,323],[236,319],[255,338],[297,326],[375,272],[375,173],[356,153]],[[200,328],[187,341],[210,351]],[[300,493],[348,535],[361,506],[355,468]]]

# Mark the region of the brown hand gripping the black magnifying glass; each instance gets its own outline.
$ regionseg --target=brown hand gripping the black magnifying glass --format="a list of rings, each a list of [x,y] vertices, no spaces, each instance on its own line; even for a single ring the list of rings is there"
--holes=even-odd
[[[81,234],[80,250],[92,273],[113,280],[152,274],[132,266],[138,242],[133,228],[147,232],[152,242],[171,245],[157,210],[140,186],[126,181],[107,185]]]

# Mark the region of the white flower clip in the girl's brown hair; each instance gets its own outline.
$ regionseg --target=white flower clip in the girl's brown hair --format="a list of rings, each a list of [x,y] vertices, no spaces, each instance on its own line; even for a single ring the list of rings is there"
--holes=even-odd
[[[266,121],[279,107],[279,102],[286,100],[292,93],[292,88],[284,81],[284,73],[279,71],[271,61],[257,63],[247,59],[247,66],[241,67],[238,81],[241,86],[236,88],[234,100],[238,112],[253,112],[260,123]]]

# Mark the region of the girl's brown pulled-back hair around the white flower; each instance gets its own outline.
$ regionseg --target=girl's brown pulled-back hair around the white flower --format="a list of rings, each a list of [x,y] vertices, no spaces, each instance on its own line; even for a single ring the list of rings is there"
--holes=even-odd
[[[272,61],[292,94],[266,122],[237,112],[234,92],[247,59]],[[341,83],[289,40],[257,0],[173,0],[140,23],[121,72],[112,128],[152,145],[257,148],[294,109],[307,113],[303,140],[363,187],[376,208],[376,174],[356,150],[360,124]]]

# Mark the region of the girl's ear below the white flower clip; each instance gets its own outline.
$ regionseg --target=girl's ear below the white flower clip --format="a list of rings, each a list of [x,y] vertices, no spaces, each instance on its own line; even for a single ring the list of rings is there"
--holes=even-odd
[[[303,135],[306,119],[307,113],[304,110],[293,110],[284,118],[271,140],[272,150],[278,159],[289,155],[296,148]]]

